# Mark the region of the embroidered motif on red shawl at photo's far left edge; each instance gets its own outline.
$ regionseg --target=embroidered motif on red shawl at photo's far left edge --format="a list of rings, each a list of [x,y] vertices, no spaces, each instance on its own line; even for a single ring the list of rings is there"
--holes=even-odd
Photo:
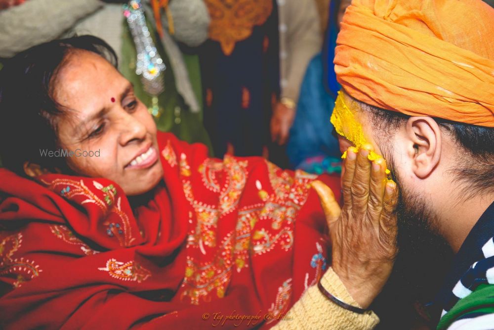
[[[14,258],[14,253],[22,244],[22,234],[4,236],[0,235],[0,275],[15,274],[16,281],[12,283],[14,288],[22,283],[40,276],[42,270],[34,261],[24,258]]]

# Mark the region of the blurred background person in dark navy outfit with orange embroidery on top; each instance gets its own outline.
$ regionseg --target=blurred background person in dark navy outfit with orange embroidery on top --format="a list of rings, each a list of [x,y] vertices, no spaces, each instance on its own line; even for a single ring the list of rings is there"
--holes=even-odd
[[[280,94],[276,2],[204,2],[211,23],[199,54],[214,155],[267,157],[269,118]]]

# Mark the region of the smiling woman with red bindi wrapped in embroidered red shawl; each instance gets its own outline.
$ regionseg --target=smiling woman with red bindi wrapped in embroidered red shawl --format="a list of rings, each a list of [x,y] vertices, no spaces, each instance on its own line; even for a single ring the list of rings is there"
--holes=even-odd
[[[327,267],[316,177],[158,133],[114,65],[82,36],[0,72],[2,326],[198,329],[207,312],[272,327]]]

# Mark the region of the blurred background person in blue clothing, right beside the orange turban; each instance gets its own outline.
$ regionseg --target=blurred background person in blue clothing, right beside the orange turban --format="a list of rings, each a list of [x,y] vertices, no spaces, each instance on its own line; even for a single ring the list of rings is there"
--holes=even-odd
[[[341,87],[331,64],[339,22],[350,3],[351,0],[331,0],[329,3],[323,51],[309,63],[289,134],[287,152],[291,166],[310,173],[341,171],[341,153],[337,139],[331,134],[333,128],[329,122]]]

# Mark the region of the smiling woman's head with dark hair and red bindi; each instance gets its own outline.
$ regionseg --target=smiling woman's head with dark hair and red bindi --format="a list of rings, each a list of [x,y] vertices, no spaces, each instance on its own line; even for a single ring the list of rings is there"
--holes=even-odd
[[[87,49],[51,43],[21,54],[13,59],[11,66],[5,67],[5,77],[19,77],[12,70],[22,68],[22,62],[27,63],[36,56],[38,60],[31,63],[27,73],[21,76],[24,79],[17,84],[25,83],[34,88],[41,78],[42,85],[38,87],[49,91],[48,95],[42,95],[40,91],[19,89],[16,83],[4,88],[2,107],[24,109],[3,111],[6,120],[2,122],[7,125],[2,132],[5,138],[8,136],[18,142],[2,146],[5,165],[18,172],[22,162],[22,169],[29,176],[36,176],[37,169],[41,169],[104,177],[118,183],[127,195],[149,191],[158,184],[163,173],[158,161],[156,125],[146,106],[134,96],[130,83],[110,62],[94,52],[97,48],[91,49],[92,45],[105,45],[89,36],[75,40],[85,41]],[[41,57],[41,52],[49,47],[58,54]],[[55,66],[57,57],[63,58],[62,65]],[[51,64],[51,72],[46,64]],[[42,96],[36,97],[40,94]],[[118,101],[112,102],[112,99]],[[31,136],[25,136],[12,125],[20,122],[20,117],[22,123],[31,123],[30,132],[40,139],[32,141]],[[57,161],[41,153],[33,157],[37,149],[60,148],[103,151],[99,158],[68,157]]]

